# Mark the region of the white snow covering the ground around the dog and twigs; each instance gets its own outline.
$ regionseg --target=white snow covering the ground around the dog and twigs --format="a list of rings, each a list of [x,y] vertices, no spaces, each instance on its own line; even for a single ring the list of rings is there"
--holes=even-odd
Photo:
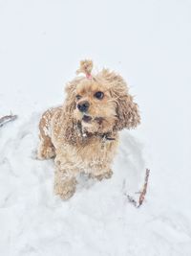
[[[191,1],[0,0],[1,256],[191,255]],[[53,161],[37,161],[44,109],[62,104],[78,61],[130,84],[141,110],[121,132],[112,179],[81,177],[53,196]],[[134,195],[151,169],[146,201]]]

